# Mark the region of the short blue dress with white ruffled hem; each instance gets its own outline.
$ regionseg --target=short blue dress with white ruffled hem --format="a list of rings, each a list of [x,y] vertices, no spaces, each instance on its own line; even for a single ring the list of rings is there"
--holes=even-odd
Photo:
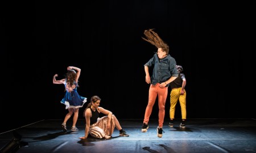
[[[60,103],[66,105],[66,109],[68,109],[68,108],[80,108],[87,101],[86,97],[80,96],[79,93],[77,92],[77,83],[74,83],[74,84],[76,85],[76,88],[73,89],[73,91],[71,91],[71,92],[68,92],[66,90],[64,98],[60,101]],[[65,82],[64,85],[65,85],[65,88],[66,88],[67,83]]]

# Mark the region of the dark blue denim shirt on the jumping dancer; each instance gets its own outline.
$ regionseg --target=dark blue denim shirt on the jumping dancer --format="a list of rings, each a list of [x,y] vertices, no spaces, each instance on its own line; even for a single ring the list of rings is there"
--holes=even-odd
[[[168,54],[167,57],[163,59],[158,58],[158,54],[155,53],[144,66],[151,67],[154,65],[153,74],[151,75],[151,84],[166,82],[171,76],[178,76],[176,69],[176,61],[173,57]],[[166,87],[169,87],[167,84]]]

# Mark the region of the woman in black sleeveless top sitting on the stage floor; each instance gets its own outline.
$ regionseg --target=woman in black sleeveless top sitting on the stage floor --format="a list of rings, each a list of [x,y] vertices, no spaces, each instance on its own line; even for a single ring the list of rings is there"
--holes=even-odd
[[[85,126],[85,136],[80,137],[80,139],[86,139],[88,134],[94,138],[111,138],[114,128],[119,130],[119,135],[123,137],[129,137],[126,131],[122,129],[117,118],[112,114],[112,112],[98,107],[100,105],[101,99],[98,96],[92,96],[90,103],[87,105],[84,111],[84,116],[86,120]],[[99,117],[100,113],[104,113],[107,116]]]

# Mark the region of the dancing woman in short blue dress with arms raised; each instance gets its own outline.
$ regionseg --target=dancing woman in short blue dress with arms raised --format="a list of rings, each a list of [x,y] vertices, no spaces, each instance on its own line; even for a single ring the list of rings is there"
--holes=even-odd
[[[64,84],[65,85],[65,96],[60,101],[62,104],[66,105],[66,109],[68,109],[68,113],[66,114],[61,127],[63,131],[67,131],[66,123],[68,119],[74,114],[73,116],[73,125],[71,130],[78,131],[79,129],[76,128],[76,122],[79,116],[79,108],[84,105],[86,102],[86,97],[82,97],[77,92],[78,80],[81,74],[81,69],[74,66],[68,66],[68,73],[65,75],[64,79],[56,80],[57,74],[53,76],[53,84]]]

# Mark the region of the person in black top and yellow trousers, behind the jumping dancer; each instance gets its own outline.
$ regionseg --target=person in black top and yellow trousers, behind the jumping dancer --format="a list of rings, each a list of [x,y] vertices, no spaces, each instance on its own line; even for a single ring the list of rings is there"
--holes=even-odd
[[[186,79],[185,75],[181,73],[183,71],[183,67],[180,65],[176,65],[177,71],[179,73],[178,77],[170,83],[171,86],[171,106],[170,106],[170,127],[174,127],[174,115],[175,115],[175,107],[177,104],[177,101],[180,102],[180,108],[181,108],[181,123],[180,128],[185,128],[185,120],[187,118],[187,109],[186,109]]]

